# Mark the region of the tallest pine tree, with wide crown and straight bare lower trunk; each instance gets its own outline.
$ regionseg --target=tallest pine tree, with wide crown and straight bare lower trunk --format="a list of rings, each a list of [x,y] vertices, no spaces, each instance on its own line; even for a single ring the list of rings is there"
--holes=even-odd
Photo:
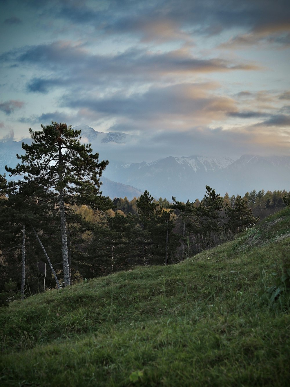
[[[37,187],[43,189],[49,200],[58,202],[61,223],[61,245],[65,285],[70,284],[68,260],[66,203],[90,204],[93,208],[108,208],[111,200],[101,196],[102,171],[108,161],[99,163],[99,154],[92,153],[90,144],[79,141],[80,131],[65,123],[52,125],[33,132],[29,128],[32,144],[22,143],[24,155],[17,155],[21,163],[7,168],[10,176],[24,176],[24,180],[12,183],[10,190],[27,190],[32,194]],[[18,187],[18,188],[17,188]],[[22,188],[25,187],[25,188]],[[35,196],[35,195],[34,195]]]

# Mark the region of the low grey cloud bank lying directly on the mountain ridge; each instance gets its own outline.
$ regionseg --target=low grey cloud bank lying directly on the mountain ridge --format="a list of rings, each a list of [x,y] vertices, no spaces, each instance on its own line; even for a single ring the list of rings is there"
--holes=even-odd
[[[259,142],[261,136],[264,138],[263,144]],[[265,133],[259,128],[244,128],[236,131],[200,126],[191,127],[184,132],[159,130],[143,132],[139,137],[127,142],[126,146],[94,142],[92,146],[99,152],[100,158],[125,163],[151,162],[168,156],[226,155],[237,159],[246,153],[264,156],[275,153],[290,154],[287,142],[281,144],[271,133]]]

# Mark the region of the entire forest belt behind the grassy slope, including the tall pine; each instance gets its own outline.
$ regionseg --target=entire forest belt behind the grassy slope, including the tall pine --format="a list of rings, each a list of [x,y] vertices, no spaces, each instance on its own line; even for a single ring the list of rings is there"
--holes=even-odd
[[[22,144],[19,164],[6,166],[14,180],[0,175],[4,304],[17,289],[24,298],[135,265],[179,262],[255,224],[255,209],[278,208],[289,197],[286,191],[221,197],[206,186],[195,202],[155,200],[148,191],[111,200],[100,182],[108,161],[80,143],[80,131],[56,122],[29,131],[32,144]]]

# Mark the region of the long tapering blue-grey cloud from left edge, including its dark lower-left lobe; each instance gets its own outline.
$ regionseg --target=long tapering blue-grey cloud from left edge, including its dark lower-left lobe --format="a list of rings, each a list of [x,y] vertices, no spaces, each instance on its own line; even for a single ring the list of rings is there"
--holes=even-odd
[[[68,41],[38,45],[2,55],[2,61],[35,65],[51,75],[34,77],[27,89],[47,93],[53,87],[126,87],[146,82],[184,78],[193,74],[258,70],[254,63],[221,58],[197,58],[188,49],[155,52],[131,48],[111,55],[93,55],[82,45]]]

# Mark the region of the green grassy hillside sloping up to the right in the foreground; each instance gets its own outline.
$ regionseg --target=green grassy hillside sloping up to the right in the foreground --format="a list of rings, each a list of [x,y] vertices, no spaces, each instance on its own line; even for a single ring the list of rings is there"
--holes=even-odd
[[[0,383],[286,386],[289,267],[287,208],[181,264],[14,301],[0,310]]]

